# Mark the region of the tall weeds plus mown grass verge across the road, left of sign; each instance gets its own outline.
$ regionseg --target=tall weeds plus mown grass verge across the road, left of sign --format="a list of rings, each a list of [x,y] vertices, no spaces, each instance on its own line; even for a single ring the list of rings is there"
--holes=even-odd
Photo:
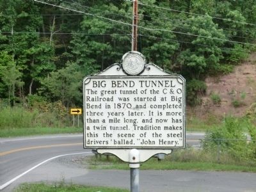
[[[65,111],[0,107],[0,138],[83,132],[82,126],[70,125],[72,120]]]

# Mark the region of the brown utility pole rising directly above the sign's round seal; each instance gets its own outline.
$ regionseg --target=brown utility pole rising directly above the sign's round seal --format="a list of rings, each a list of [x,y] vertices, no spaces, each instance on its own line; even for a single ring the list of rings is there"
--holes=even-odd
[[[138,0],[133,0],[132,51],[137,51],[138,42]]]

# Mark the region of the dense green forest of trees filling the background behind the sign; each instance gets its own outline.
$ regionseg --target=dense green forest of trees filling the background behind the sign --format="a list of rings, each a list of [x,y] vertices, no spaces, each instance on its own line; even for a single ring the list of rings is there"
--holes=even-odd
[[[15,106],[36,98],[81,106],[83,78],[131,51],[132,1],[38,1],[0,0],[0,101]],[[231,72],[255,48],[253,0],[138,5],[138,51],[185,77],[189,104],[198,103],[206,76]]]

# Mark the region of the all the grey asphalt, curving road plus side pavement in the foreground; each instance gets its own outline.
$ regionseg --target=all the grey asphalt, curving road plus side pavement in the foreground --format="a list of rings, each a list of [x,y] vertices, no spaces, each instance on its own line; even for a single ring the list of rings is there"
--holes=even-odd
[[[202,133],[187,134],[198,147]],[[81,154],[83,153],[83,154]],[[74,154],[74,155],[70,155]],[[0,189],[11,191],[22,182],[65,179],[77,184],[129,189],[129,172],[86,170],[77,157],[92,155],[83,149],[82,135],[0,139]],[[111,177],[109,177],[111,175]],[[256,191],[255,173],[141,171],[141,191]]]

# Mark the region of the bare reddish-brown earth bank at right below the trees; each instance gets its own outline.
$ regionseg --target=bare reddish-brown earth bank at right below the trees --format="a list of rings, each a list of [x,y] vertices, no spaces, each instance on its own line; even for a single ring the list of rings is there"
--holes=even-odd
[[[196,115],[243,116],[256,102],[256,53],[225,76],[207,77],[207,92],[202,106],[195,108]]]

